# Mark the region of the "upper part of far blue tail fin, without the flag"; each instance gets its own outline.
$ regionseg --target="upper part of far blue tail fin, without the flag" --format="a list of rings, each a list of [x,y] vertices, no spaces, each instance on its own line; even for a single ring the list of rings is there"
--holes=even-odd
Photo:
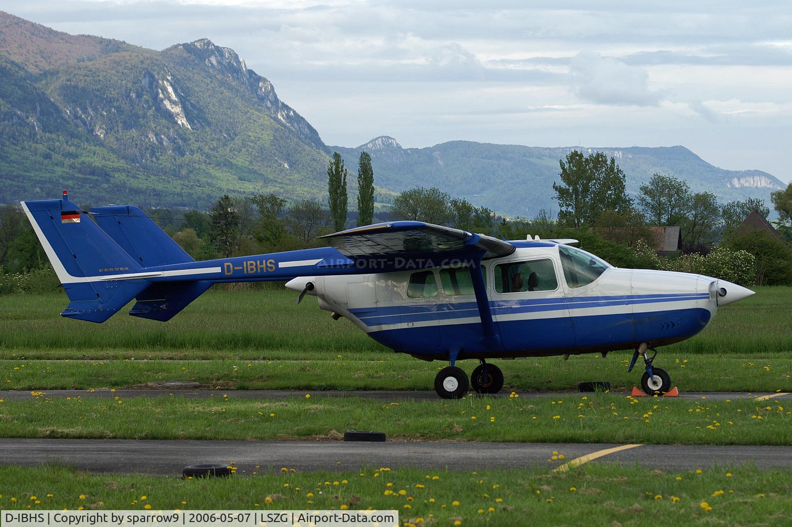
[[[137,207],[93,207],[91,212],[99,227],[143,267],[195,262]]]

